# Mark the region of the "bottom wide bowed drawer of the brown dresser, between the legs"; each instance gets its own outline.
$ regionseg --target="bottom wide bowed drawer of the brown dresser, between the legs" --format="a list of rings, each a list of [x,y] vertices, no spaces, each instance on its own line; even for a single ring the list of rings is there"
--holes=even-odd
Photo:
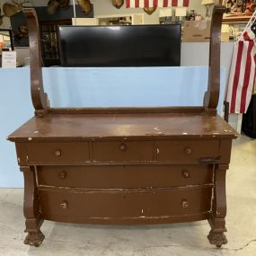
[[[198,190],[39,190],[45,219],[185,216],[210,211],[212,188]]]

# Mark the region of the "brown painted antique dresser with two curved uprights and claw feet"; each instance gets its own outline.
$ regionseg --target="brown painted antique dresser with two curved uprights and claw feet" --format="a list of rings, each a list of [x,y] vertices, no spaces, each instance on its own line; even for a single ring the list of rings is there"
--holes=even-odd
[[[44,220],[108,225],[207,220],[209,242],[227,243],[225,172],[238,135],[216,114],[224,12],[216,6],[213,14],[203,106],[53,109],[43,89],[36,13],[25,11],[35,117],[8,137],[24,175],[24,243],[42,243]]]

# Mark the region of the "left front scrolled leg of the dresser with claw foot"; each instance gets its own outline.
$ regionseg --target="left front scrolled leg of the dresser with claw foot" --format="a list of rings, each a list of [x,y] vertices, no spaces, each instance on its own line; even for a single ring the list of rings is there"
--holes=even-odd
[[[28,233],[24,243],[39,246],[45,236],[40,231],[43,219],[40,215],[35,168],[33,166],[22,166],[21,171],[24,175],[23,212],[26,218],[25,232]]]

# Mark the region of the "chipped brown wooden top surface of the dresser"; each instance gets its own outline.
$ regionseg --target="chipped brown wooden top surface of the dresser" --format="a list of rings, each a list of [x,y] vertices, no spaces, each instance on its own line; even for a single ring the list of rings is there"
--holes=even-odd
[[[14,142],[108,138],[235,138],[224,119],[195,114],[49,114],[32,118],[8,137]]]

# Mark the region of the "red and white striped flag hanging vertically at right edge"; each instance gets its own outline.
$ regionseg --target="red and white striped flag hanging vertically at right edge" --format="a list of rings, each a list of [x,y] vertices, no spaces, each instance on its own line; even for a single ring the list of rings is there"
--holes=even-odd
[[[225,101],[230,113],[246,113],[252,98],[256,74],[256,23],[243,32],[234,43],[233,58],[227,84]]]

